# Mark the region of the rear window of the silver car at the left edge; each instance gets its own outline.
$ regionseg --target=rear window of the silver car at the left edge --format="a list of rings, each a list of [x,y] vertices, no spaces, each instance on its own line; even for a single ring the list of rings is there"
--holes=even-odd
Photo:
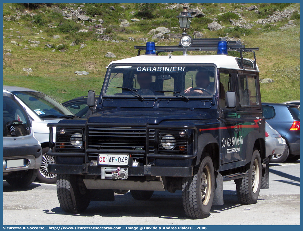
[[[30,134],[30,122],[22,106],[8,96],[3,96],[3,136]]]

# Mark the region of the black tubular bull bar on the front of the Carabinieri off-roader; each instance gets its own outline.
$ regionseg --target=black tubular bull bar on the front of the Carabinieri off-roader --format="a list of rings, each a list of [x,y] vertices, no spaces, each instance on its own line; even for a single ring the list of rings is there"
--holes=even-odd
[[[69,124],[69,123],[48,123],[49,127],[49,150],[47,155],[50,156],[60,156],[60,157],[85,157],[85,162],[88,162],[88,153],[98,153],[98,154],[145,154],[146,163],[148,163],[148,158],[159,158],[159,159],[193,159],[197,156],[198,152],[198,129],[195,125],[182,125],[182,126],[173,126],[173,129],[192,129],[194,132],[194,149],[193,154],[190,155],[175,155],[175,154],[150,154],[149,153],[149,129],[171,129],[172,126],[168,125],[150,125],[148,123],[90,123],[86,124]],[[62,127],[62,128],[85,128],[87,131],[88,126],[95,127],[145,127],[146,128],[146,140],[145,140],[145,150],[111,150],[111,149],[89,149],[88,146],[88,136],[85,136],[85,152],[52,152],[53,149],[53,127]]]

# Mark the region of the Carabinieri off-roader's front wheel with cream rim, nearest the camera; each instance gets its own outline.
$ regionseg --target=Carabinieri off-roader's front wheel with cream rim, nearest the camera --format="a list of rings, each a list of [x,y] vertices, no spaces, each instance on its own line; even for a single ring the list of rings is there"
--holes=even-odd
[[[215,193],[215,171],[210,156],[204,153],[200,166],[194,167],[192,177],[184,177],[183,208],[186,216],[201,219],[208,216]]]

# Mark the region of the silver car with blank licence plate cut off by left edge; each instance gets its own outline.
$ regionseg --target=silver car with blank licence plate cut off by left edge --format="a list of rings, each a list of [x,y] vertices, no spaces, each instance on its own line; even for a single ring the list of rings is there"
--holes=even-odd
[[[42,148],[26,110],[3,89],[3,179],[15,187],[28,186],[36,178],[41,160]]]

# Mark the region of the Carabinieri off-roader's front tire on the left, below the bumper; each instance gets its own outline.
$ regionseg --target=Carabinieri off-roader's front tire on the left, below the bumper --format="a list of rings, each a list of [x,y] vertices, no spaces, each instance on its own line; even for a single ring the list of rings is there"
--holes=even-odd
[[[80,176],[57,175],[57,195],[60,207],[68,213],[81,213],[90,203],[90,192]]]

